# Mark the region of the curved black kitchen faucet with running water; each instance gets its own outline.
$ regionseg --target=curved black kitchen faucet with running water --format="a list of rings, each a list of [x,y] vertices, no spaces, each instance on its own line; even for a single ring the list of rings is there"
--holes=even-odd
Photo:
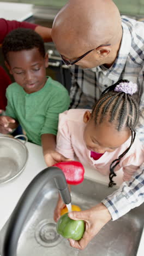
[[[17,242],[29,209],[39,191],[51,179],[54,179],[63,202],[65,204],[71,202],[68,184],[62,170],[53,166],[47,167],[41,171],[28,185],[11,214],[8,229],[4,237],[2,256],[16,256]]]

